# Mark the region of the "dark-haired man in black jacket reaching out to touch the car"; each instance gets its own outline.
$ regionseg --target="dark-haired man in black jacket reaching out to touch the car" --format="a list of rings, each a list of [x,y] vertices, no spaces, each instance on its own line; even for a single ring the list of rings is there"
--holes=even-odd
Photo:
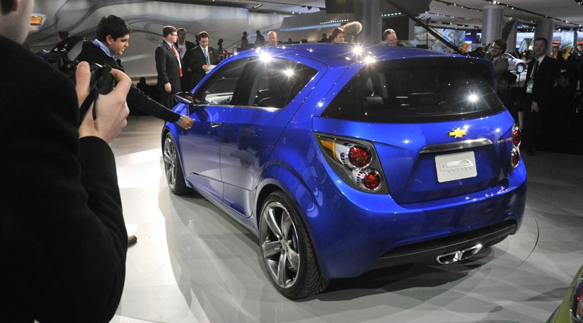
[[[77,60],[108,64],[114,69],[124,71],[113,57],[116,54],[122,55],[126,47],[129,46],[129,33],[131,31],[129,25],[120,17],[111,15],[101,18],[97,27],[96,40],[83,44],[83,49],[81,49]],[[190,129],[194,122],[186,115],[181,116],[172,110],[166,109],[166,107],[149,98],[135,86],[132,86],[129,89],[129,93],[127,93],[127,105],[142,110],[145,114],[158,119],[176,122],[184,129]]]

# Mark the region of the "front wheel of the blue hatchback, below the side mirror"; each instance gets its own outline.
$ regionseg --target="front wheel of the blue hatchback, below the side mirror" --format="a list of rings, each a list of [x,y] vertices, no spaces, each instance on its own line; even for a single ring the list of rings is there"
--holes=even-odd
[[[186,186],[182,166],[180,166],[180,160],[178,159],[176,142],[174,141],[171,132],[168,132],[164,138],[162,158],[164,160],[166,182],[168,183],[170,191],[176,195],[183,195],[192,192],[192,189]]]

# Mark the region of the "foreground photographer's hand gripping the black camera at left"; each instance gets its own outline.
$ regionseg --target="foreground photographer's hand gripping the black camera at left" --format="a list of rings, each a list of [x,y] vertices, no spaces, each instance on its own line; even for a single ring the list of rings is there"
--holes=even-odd
[[[112,69],[111,74],[117,81],[117,86],[108,94],[100,94],[91,105],[89,112],[79,127],[79,138],[86,136],[96,136],[110,143],[117,134],[127,124],[126,117],[129,109],[125,103],[127,91],[132,86],[132,80],[122,71]],[[91,82],[91,71],[86,61],[81,61],[76,70],[76,91],[79,105],[89,94],[89,83]],[[97,118],[93,120],[93,112],[96,105]]]

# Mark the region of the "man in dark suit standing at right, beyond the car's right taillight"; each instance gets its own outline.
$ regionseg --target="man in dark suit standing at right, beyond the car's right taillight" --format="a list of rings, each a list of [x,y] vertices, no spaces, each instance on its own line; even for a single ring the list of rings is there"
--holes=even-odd
[[[548,149],[549,120],[553,110],[553,87],[560,74],[558,61],[547,56],[548,40],[538,37],[534,40],[534,58],[529,63],[524,82],[524,134],[523,146],[527,155],[534,155],[535,148]]]

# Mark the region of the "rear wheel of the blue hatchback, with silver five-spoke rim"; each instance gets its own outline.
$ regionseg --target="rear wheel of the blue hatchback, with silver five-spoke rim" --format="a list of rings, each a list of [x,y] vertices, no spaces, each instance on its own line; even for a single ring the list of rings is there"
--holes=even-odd
[[[267,196],[260,217],[261,264],[277,291],[297,299],[324,290],[330,279],[320,271],[308,231],[289,196],[281,191]]]

